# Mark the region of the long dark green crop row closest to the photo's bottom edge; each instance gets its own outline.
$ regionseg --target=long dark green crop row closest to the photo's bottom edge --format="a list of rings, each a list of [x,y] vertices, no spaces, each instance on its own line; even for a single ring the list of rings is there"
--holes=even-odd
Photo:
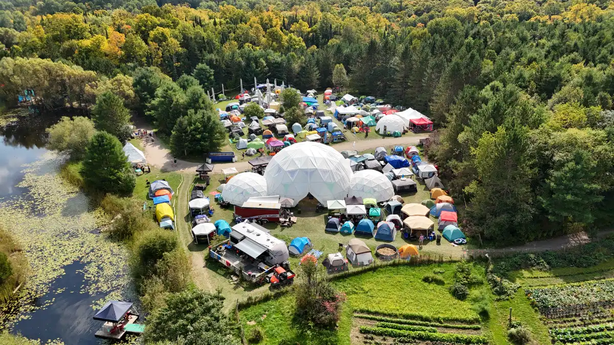
[[[424,331],[402,331],[392,328],[380,327],[360,327],[360,333],[368,333],[380,336],[391,336],[392,338],[418,339],[424,341],[448,341],[460,344],[488,344],[488,339],[481,335],[464,335],[454,333],[430,333]],[[409,343],[410,341],[401,341]]]

